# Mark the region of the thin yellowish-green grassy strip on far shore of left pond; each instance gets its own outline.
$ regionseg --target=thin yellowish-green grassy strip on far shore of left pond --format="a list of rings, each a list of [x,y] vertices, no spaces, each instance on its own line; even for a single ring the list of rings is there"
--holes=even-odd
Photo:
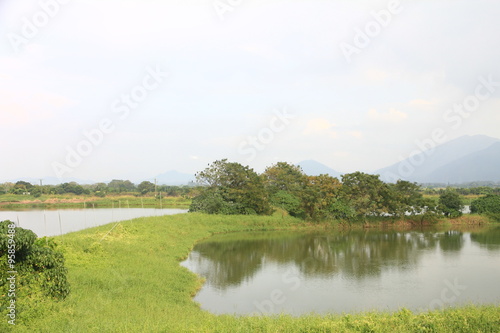
[[[87,195],[0,195],[0,209],[61,209],[61,208],[182,208],[187,209],[190,199],[183,197],[108,195],[104,198]]]

